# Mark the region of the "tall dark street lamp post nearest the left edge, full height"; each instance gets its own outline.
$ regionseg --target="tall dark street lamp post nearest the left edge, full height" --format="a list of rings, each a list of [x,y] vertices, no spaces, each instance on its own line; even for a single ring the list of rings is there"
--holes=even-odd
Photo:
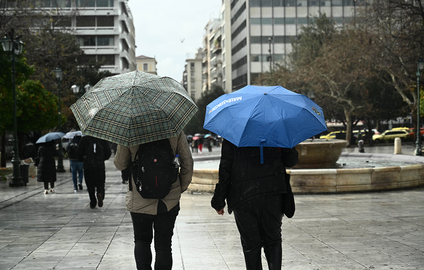
[[[23,50],[23,42],[18,38],[14,38],[14,30],[12,29],[8,36],[1,39],[3,51],[6,53],[11,52],[12,55],[12,84],[13,84],[13,156],[12,156],[12,177],[9,186],[24,186],[22,181],[19,165],[21,161],[18,154],[18,136],[17,136],[17,120],[16,120],[16,70],[15,70],[15,55],[19,56]]]

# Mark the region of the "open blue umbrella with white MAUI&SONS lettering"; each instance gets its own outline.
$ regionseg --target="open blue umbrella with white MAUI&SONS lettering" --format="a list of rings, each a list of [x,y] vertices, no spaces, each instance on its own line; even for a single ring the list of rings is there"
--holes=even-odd
[[[327,130],[320,106],[282,86],[245,86],[206,106],[203,128],[237,147],[292,148]]]

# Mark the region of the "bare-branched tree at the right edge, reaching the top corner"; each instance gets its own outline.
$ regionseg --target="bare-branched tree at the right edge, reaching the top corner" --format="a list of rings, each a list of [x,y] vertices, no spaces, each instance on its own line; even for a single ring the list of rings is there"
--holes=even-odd
[[[416,122],[416,62],[424,55],[422,1],[375,0],[361,9],[358,16],[357,29],[369,40],[367,61],[388,75],[383,73],[379,79],[396,89]]]

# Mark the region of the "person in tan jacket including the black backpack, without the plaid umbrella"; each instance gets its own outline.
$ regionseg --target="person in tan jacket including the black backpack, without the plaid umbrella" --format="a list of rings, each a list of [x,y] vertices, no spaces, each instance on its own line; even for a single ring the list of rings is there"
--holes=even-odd
[[[179,201],[193,175],[193,159],[184,132],[129,148],[118,145],[114,164],[118,170],[131,167],[126,209],[133,222],[137,269],[152,269],[150,245],[154,230],[154,269],[171,270],[171,242]]]

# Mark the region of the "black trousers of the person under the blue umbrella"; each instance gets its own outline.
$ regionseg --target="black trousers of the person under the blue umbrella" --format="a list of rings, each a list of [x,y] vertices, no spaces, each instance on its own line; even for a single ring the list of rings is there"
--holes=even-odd
[[[257,197],[234,209],[247,270],[262,270],[264,247],[269,270],[281,270],[282,195]]]

